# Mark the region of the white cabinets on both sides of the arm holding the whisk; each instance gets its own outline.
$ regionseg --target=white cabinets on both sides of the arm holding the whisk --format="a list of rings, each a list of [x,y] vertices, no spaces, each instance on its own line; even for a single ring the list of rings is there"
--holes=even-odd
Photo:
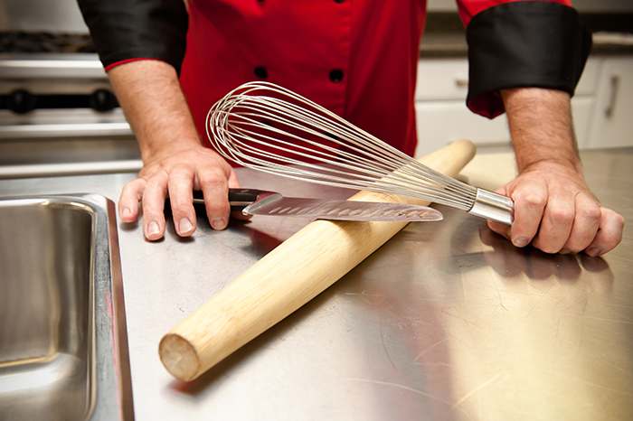
[[[616,94],[611,93],[614,85]],[[505,115],[489,120],[472,113],[466,107],[467,94],[466,58],[420,60],[415,95],[417,157],[464,138],[482,152],[511,150]],[[610,117],[600,117],[605,115],[604,108],[609,104]],[[633,145],[633,136],[628,135],[633,133],[631,110],[633,57],[590,58],[572,98],[578,145],[581,148]],[[607,137],[608,141],[600,140]]]

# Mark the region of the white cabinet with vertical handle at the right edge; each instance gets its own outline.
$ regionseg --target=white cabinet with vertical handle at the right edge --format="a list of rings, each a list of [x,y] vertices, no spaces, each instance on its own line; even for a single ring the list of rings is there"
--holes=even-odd
[[[633,145],[633,56],[605,57],[600,62],[590,135],[581,147],[630,145]]]

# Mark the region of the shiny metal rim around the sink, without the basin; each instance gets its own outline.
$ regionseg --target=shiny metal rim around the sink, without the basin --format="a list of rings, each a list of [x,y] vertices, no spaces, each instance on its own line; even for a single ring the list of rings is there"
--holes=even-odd
[[[133,419],[131,374],[115,204],[96,193],[0,197],[0,206],[38,202],[74,203],[92,216],[90,252],[89,361],[91,387],[87,419]]]

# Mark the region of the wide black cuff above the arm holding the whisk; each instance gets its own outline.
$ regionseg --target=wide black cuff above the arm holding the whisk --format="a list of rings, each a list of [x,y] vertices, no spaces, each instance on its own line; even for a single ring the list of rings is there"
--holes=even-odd
[[[467,28],[468,108],[505,111],[499,89],[537,87],[573,95],[591,50],[591,33],[572,7],[547,1],[496,5]]]

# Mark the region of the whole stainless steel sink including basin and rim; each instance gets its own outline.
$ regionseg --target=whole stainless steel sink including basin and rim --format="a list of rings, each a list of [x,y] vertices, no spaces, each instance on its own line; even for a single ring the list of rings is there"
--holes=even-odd
[[[114,204],[0,199],[0,419],[133,418]]]

